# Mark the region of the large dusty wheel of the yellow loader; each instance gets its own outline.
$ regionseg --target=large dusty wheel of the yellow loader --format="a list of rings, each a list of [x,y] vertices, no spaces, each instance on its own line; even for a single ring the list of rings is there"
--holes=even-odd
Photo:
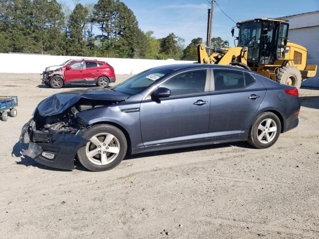
[[[296,67],[283,66],[282,68],[279,68],[276,81],[281,84],[294,86],[299,89],[302,83],[301,72]]]

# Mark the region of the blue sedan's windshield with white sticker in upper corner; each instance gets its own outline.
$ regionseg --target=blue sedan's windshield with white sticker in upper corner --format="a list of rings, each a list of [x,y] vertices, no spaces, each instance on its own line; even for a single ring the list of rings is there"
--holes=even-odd
[[[135,95],[142,92],[170,72],[172,72],[170,69],[150,69],[131,77],[111,89],[127,95]]]

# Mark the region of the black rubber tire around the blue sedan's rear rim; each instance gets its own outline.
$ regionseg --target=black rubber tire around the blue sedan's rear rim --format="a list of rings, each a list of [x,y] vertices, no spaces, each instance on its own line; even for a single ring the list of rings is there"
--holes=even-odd
[[[274,122],[271,121],[270,126],[267,127],[265,125],[266,127],[264,128],[264,130],[260,130],[259,129],[260,124],[261,123],[263,124],[264,122],[267,123],[267,119],[272,119]],[[272,134],[275,132],[268,132],[268,135],[271,135],[270,138],[272,140],[269,140],[269,142],[267,142],[265,130],[267,132],[267,130],[269,130],[269,128],[272,128],[274,126],[277,127],[276,134]],[[263,134],[263,132],[264,132],[264,134]],[[278,118],[278,116],[276,116],[272,112],[264,112],[264,113],[260,114],[252,123],[247,141],[250,145],[252,145],[255,148],[268,148],[268,147],[272,146],[274,143],[276,143],[276,141],[278,140],[278,137],[280,135],[280,132],[281,132],[281,122],[280,122],[280,119]],[[262,140],[262,139],[259,140],[258,135],[260,135],[260,136],[264,135],[262,137],[262,139],[264,139],[264,140]]]

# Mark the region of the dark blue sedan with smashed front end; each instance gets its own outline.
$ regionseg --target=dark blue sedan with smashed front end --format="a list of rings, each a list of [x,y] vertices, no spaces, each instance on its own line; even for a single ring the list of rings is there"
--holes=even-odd
[[[262,149],[298,125],[298,90],[232,66],[146,70],[113,88],[55,94],[22,128],[23,152],[73,169],[110,170],[130,154],[247,141]]]

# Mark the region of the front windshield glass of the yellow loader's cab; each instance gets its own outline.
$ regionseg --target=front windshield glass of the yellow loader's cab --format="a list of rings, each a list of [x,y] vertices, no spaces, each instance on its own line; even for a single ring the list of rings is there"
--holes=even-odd
[[[256,46],[260,44],[261,22],[242,23],[239,28],[238,46]]]

